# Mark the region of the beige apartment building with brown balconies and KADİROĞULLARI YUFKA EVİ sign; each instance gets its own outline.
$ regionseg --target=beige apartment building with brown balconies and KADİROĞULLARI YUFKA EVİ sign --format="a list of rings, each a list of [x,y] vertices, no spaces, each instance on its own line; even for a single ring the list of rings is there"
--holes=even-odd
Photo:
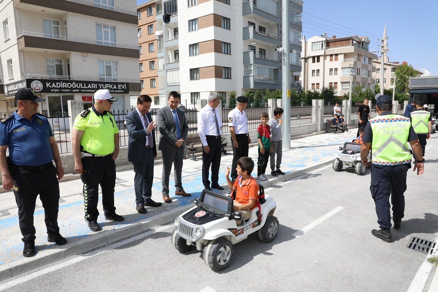
[[[98,89],[130,108],[141,91],[135,0],[3,0],[0,15],[0,111],[14,111],[14,94],[33,88],[46,116],[68,116],[67,101],[92,105]]]

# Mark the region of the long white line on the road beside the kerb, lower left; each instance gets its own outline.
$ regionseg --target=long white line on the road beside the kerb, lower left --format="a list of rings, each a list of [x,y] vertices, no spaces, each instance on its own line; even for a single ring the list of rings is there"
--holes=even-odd
[[[87,260],[87,259],[89,259],[91,257],[95,257],[95,256],[97,256],[97,255],[99,255],[101,253],[107,252],[109,250],[113,250],[113,249],[119,248],[119,247],[124,246],[124,245],[129,244],[129,243],[133,243],[134,241],[143,239],[145,237],[148,237],[148,236],[154,234],[155,232],[160,232],[160,231],[168,229],[169,227],[172,227],[172,226],[173,226],[173,224],[155,227],[154,229],[149,230],[148,232],[139,234],[138,236],[134,236],[134,237],[131,237],[129,239],[125,239],[125,240],[120,241],[118,243],[113,243],[113,244],[111,244],[109,246],[102,247],[102,248],[100,248],[98,250],[82,254],[82,255],[80,255],[78,257],[75,257],[75,258],[73,258],[71,260],[67,260],[67,261],[62,262],[60,264],[56,264],[56,265],[53,265],[51,267],[42,269],[40,271],[36,271],[36,272],[34,272],[32,274],[28,274],[28,275],[25,275],[25,276],[20,277],[18,279],[9,281],[7,283],[4,283],[3,285],[0,285],[0,291],[9,289],[11,287],[14,287],[16,285],[24,283],[26,281],[35,279],[35,278],[37,278],[39,276],[42,276],[42,275],[45,275],[45,274],[49,274],[49,273],[51,273],[53,271],[60,270],[60,269],[62,269],[64,267],[71,266],[72,264],[76,264],[78,262],[81,262],[82,260]]]

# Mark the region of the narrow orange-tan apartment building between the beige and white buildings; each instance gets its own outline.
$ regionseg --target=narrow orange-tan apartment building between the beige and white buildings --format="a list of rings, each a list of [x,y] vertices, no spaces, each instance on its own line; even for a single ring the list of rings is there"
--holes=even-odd
[[[149,95],[152,98],[152,105],[158,106],[160,102],[158,95],[158,47],[155,35],[155,0],[138,5],[137,14],[141,94]]]

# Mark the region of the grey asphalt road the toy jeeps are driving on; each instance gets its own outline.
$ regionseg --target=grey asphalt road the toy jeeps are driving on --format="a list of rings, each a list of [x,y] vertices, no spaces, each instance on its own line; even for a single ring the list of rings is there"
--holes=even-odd
[[[401,229],[392,229],[392,243],[371,235],[378,224],[370,170],[358,176],[329,166],[266,189],[277,202],[278,237],[263,243],[250,236],[236,244],[224,271],[210,270],[201,252],[175,250],[169,222],[115,248],[2,282],[0,291],[406,292],[426,258],[407,243],[412,236],[438,236],[434,136],[428,140],[425,174],[408,173],[405,218]]]

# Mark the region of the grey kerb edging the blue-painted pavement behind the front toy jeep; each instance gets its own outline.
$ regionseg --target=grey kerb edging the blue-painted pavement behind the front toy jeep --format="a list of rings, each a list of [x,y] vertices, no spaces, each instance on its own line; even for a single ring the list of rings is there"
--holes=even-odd
[[[276,183],[281,183],[297,176],[302,176],[306,172],[310,172],[326,165],[331,164],[332,158],[322,162],[318,162],[314,165],[305,167],[304,169],[298,169],[296,171],[286,172],[284,176],[277,176],[273,179],[263,181],[261,184],[268,188]],[[97,250],[103,246],[111,243],[119,242],[123,239],[130,238],[145,232],[146,230],[155,227],[157,225],[165,225],[165,223],[173,222],[181,213],[192,208],[193,204],[180,206],[165,213],[158,214],[147,218],[144,222],[134,223],[129,226],[121,227],[118,229],[104,230],[92,236],[87,236],[78,240],[75,243],[67,243],[67,248],[55,248],[52,250],[45,250],[44,253],[37,253],[34,257],[28,260],[22,259],[11,262],[9,264],[0,265],[0,281],[16,277],[20,274],[37,270],[48,264],[52,264],[59,260],[64,260],[71,256],[81,255],[88,253],[92,250]]]

